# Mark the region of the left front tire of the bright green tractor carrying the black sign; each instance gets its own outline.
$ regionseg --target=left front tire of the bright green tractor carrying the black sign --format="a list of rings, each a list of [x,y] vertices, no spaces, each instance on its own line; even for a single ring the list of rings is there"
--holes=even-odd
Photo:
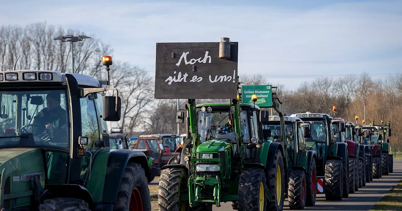
[[[166,168],[160,172],[158,205],[161,211],[186,210],[188,203],[179,204],[180,189],[186,188],[187,176],[184,169]],[[180,209],[179,209],[180,208]]]

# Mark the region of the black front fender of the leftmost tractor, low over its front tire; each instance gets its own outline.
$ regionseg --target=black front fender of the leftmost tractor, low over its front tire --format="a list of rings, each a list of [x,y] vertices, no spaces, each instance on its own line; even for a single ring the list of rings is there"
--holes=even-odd
[[[49,191],[51,199],[57,197],[63,198],[76,198],[82,199],[89,205],[90,210],[94,210],[94,202],[92,201],[92,196],[89,191],[78,184],[46,184],[45,190]],[[49,197],[47,197],[49,199]]]

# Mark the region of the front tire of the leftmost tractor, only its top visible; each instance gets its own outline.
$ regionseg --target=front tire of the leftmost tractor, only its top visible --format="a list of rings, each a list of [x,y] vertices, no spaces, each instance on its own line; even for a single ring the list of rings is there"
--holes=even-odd
[[[90,211],[88,203],[81,199],[54,198],[46,199],[39,206],[39,211]]]

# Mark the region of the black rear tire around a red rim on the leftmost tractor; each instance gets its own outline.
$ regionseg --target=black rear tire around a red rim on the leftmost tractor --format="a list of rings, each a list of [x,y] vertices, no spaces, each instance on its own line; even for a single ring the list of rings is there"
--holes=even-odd
[[[143,210],[151,211],[150,190],[145,171],[140,164],[129,162],[124,170],[113,210],[130,210],[130,200],[134,190],[141,195]]]

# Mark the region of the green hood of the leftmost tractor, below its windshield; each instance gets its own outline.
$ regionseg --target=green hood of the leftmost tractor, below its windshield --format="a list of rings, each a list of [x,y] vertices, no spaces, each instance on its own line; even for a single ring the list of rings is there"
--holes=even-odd
[[[45,184],[45,167],[40,149],[8,148],[0,150],[1,201],[4,208],[25,207],[33,197],[32,174]]]

